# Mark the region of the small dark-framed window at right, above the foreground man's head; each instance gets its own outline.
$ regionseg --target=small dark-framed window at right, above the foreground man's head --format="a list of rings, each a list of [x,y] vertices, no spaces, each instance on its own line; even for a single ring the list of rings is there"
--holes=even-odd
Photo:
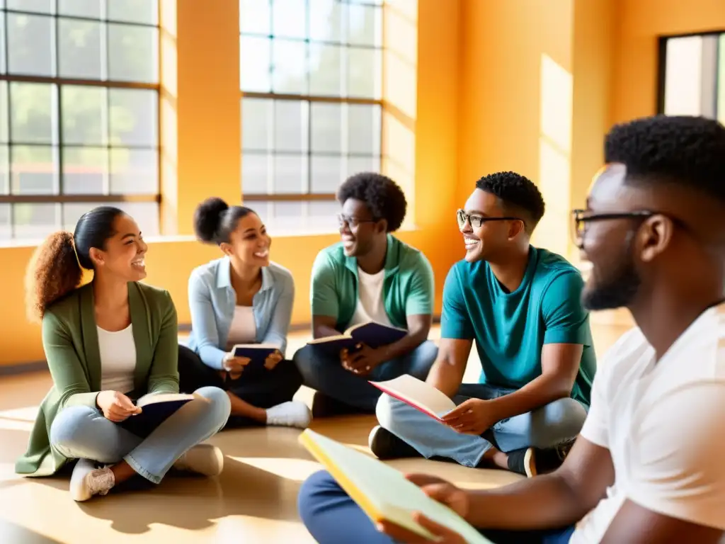
[[[725,33],[661,38],[659,111],[725,123]]]

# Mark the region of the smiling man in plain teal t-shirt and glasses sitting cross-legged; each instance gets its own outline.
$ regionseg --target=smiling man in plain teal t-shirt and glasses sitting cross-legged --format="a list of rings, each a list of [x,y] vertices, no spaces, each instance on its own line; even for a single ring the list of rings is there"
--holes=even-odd
[[[370,434],[379,458],[421,455],[532,476],[563,461],[587,417],[596,360],[584,281],[532,247],[537,187],[513,172],[481,178],[458,210],[465,260],[447,276],[439,356],[428,384],[452,397],[444,423],[384,395]],[[478,384],[463,384],[473,342]]]

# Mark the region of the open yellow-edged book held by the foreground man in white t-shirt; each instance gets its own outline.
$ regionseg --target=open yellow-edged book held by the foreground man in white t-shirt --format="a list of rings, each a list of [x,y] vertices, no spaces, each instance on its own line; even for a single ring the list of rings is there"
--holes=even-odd
[[[413,520],[413,513],[420,512],[457,532],[467,543],[491,544],[465,519],[428,497],[420,487],[408,481],[392,466],[310,429],[305,429],[299,435],[299,442],[327,469],[373,523],[386,520],[435,540],[434,535]]]

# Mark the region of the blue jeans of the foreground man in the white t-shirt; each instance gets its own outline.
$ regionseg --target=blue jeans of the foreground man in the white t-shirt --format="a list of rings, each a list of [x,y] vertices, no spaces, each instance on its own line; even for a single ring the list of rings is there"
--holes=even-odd
[[[326,471],[312,474],[299,490],[302,522],[319,544],[394,544]],[[549,531],[483,530],[494,544],[566,544],[573,527]]]

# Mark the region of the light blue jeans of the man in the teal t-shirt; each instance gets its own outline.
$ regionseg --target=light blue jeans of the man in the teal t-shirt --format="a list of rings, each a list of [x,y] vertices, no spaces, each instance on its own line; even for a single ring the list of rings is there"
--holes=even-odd
[[[486,384],[463,384],[454,397],[456,405],[468,398],[491,400],[513,390]],[[461,434],[415,408],[382,395],[376,408],[378,423],[413,446],[425,458],[446,457],[463,466],[478,466],[492,448],[483,437]],[[576,437],[587,419],[587,408],[572,398],[561,398],[537,410],[502,419],[492,428],[498,448],[507,453],[520,448],[547,448]]]

